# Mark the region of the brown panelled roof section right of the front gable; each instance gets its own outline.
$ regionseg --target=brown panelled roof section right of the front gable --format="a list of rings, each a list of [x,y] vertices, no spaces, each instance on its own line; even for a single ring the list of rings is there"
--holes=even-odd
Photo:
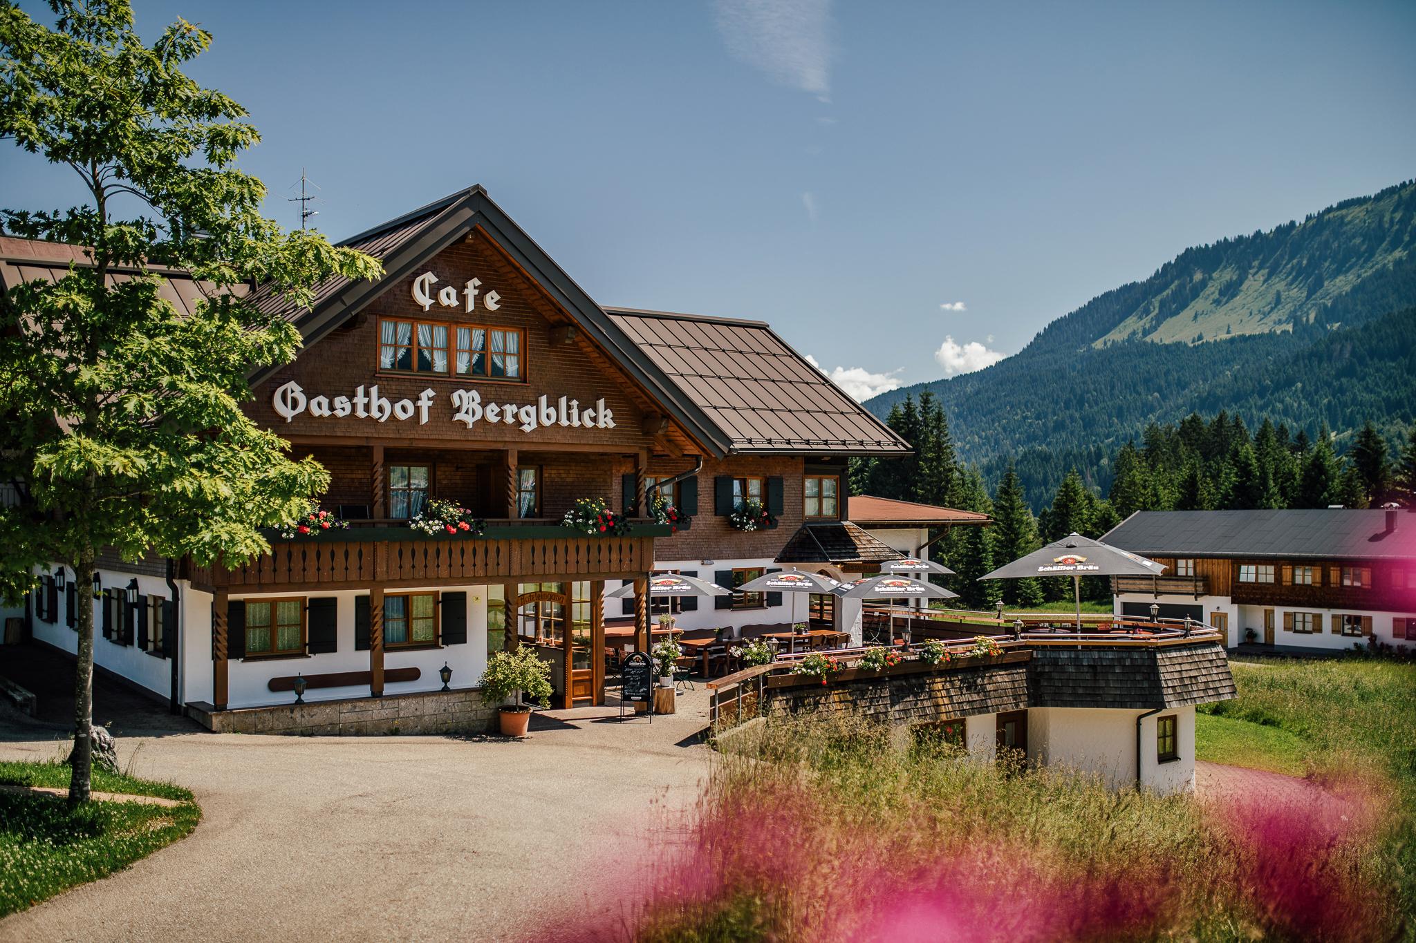
[[[728,434],[733,452],[909,451],[762,321],[605,311]]]

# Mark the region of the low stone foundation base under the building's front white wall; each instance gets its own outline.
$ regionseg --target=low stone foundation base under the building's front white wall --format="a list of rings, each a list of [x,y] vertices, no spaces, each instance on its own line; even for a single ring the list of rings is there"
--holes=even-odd
[[[217,734],[484,734],[496,724],[497,708],[481,700],[480,689],[463,689],[225,711],[193,701],[187,715]]]

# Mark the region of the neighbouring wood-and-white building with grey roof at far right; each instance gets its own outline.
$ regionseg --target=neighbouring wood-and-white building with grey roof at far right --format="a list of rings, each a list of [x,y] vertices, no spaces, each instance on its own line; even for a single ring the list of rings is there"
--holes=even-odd
[[[1102,540],[1167,567],[1114,578],[1117,615],[1155,605],[1228,648],[1416,648],[1413,510],[1143,510]]]

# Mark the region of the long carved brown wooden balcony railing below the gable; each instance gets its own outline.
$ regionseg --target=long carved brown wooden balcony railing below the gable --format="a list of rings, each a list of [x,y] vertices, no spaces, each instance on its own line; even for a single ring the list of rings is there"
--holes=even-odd
[[[525,520],[489,520],[476,537],[353,526],[317,536],[268,534],[268,554],[232,566],[185,560],[183,575],[200,590],[228,592],[617,580],[653,570],[654,537],[668,533],[667,525],[647,522],[630,534],[593,537]]]

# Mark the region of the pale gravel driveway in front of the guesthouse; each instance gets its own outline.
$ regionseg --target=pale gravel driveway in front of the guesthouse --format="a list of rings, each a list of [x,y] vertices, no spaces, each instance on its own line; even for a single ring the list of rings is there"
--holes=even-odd
[[[707,773],[702,690],[653,724],[573,714],[537,718],[521,742],[149,724],[119,741],[120,763],[191,787],[201,824],[0,920],[0,940],[514,937],[583,895],[615,845],[691,803]],[[57,735],[11,715],[0,758],[54,756]]]

